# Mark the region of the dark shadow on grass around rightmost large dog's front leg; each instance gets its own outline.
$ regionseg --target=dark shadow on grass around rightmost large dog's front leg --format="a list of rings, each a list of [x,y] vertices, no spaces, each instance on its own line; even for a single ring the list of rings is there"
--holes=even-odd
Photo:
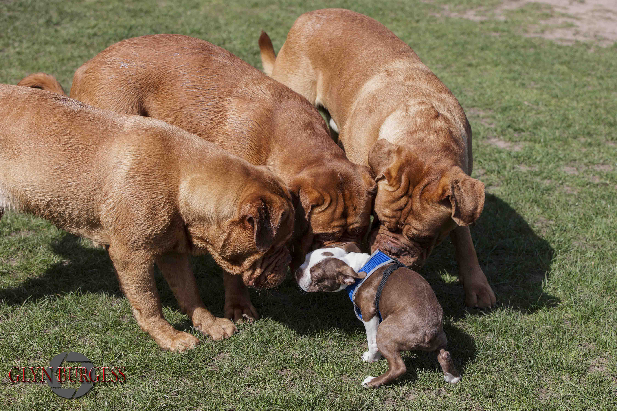
[[[543,281],[550,278],[554,250],[508,203],[487,193],[482,216],[471,227],[471,237],[480,267],[495,291],[497,306],[529,314],[557,305],[558,298],[543,289]],[[458,274],[449,241],[435,248],[420,272],[431,283],[444,315],[455,320],[467,312],[481,315],[481,311],[464,306],[465,292],[458,280],[444,280],[444,273]]]

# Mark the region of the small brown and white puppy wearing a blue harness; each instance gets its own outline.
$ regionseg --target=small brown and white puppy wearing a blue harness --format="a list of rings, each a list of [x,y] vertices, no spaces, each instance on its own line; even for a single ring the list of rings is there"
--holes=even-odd
[[[304,264],[296,271],[296,281],[304,291],[345,290],[357,279],[366,277],[366,272],[360,269],[368,259],[369,254],[348,253],[339,247],[321,248],[307,254]],[[388,363],[387,372],[378,377],[367,376],[362,386],[376,388],[403,375],[407,368],[400,352],[412,350],[437,352],[444,380],[458,383],[461,376],[446,351],[441,305],[420,274],[405,267],[392,272],[379,300],[383,318],[379,322],[375,296],[381,274],[391,264],[379,267],[355,291],[355,303],[362,312],[368,341],[368,351],[362,354],[362,359],[375,362],[384,356]]]

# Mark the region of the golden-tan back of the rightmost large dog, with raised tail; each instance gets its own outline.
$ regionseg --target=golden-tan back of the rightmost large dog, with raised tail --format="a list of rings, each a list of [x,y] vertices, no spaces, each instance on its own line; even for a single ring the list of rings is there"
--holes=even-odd
[[[271,54],[267,43],[262,35],[265,62]],[[458,151],[466,155],[471,130],[457,99],[411,47],[366,15],[345,9],[300,15],[271,76],[329,110],[355,163],[367,164],[379,138],[402,140],[409,129],[430,128],[430,123],[416,123],[426,116],[434,120],[436,113],[454,130]]]

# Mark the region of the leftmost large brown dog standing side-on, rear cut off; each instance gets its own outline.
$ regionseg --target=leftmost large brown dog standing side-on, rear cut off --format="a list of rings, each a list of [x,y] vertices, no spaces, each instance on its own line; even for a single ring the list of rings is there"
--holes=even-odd
[[[273,287],[294,221],[291,195],[265,167],[160,120],[0,84],[4,211],[106,245],[139,327],[170,351],[199,339],[165,320],[155,265],[193,325],[228,338],[236,327],[206,309],[189,255],[210,253],[234,281]]]

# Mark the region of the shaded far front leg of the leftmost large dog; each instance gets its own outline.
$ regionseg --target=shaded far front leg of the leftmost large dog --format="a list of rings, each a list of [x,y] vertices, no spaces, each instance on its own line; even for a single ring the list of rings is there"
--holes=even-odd
[[[199,296],[197,281],[191,269],[188,254],[167,253],[162,255],[157,264],[165,280],[172,288],[173,295],[180,304],[180,309],[191,317],[197,330],[212,337],[212,340],[230,338],[238,328],[226,318],[217,318],[205,307]]]

